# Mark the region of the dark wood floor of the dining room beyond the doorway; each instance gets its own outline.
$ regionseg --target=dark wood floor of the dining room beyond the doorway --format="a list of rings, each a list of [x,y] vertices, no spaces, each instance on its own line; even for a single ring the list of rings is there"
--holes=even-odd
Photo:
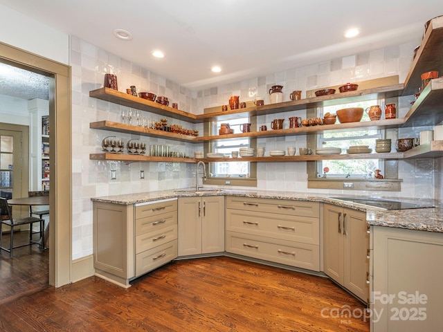
[[[15,232],[14,245],[28,242],[28,232]],[[2,246],[9,246],[9,234],[3,234]],[[49,250],[37,245],[26,246],[9,252],[0,252],[0,304],[22,295],[41,291],[48,287]]]

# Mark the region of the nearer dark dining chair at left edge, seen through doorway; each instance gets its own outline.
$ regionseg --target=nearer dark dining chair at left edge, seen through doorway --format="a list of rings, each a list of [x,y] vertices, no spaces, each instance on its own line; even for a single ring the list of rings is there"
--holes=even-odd
[[[8,200],[0,197],[0,210],[1,213],[5,216],[7,216],[8,219],[1,219],[0,223],[0,248],[1,250],[5,250],[6,252],[9,252],[9,257],[12,258],[12,249],[20,248],[24,246],[32,246],[33,244],[40,244],[40,241],[43,241],[44,239],[44,219],[37,218],[35,216],[26,216],[25,218],[19,218],[19,219],[13,219],[12,218],[12,209],[10,208],[10,205],[8,204]],[[39,240],[34,241],[33,240],[33,225],[34,223],[39,223],[39,232],[40,234]],[[10,227],[10,243],[9,248],[3,247],[2,244],[2,234],[3,234],[3,225],[8,225]],[[21,244],[19,246],[14,246],[14,228],[19,225],[29,225],[29,242],[26,244]],[[42,246],[43,248],[43,246]]]

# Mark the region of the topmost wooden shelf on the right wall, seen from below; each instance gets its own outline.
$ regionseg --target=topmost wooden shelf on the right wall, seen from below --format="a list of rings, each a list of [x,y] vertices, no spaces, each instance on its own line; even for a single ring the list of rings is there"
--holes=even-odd
[[[422,86],[422,73],[439,71],[443,74],[443,17],[431,21],[422,39],[422,44],[410,66],[404,82],[403,95],[413,95]]]

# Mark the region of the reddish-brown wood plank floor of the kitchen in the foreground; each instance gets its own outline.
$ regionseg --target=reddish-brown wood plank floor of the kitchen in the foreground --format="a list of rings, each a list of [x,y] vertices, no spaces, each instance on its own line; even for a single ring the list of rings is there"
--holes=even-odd
[[[328,279],[230,257],[175,261],[132,285],[89,277],[14,299],[0,331],[369,331],[331,317],[364,306]]]

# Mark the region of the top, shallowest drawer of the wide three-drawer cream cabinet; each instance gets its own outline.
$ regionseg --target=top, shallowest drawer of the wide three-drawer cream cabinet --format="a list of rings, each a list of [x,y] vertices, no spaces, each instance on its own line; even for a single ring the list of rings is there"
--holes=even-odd
[[[317,202],[289,201],[284,199],[253,199],[250,197],[226,198],[226,208],[256,212],[289,214],[292,216],[320,216],[320,205]]]

